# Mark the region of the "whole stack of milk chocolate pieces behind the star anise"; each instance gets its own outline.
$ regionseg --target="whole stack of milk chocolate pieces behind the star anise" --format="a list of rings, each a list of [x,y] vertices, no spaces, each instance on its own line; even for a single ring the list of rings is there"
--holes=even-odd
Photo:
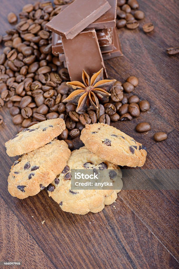
[[[116,30],[117,0],[75,0],[46,24],[53,32],[52,52],[68,68],[71,81],[104,68],[104,61],[122,56]]]

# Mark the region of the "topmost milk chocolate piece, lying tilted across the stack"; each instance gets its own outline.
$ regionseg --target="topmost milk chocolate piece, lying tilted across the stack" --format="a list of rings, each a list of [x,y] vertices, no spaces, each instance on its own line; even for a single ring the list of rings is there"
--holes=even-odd
[[[60,36],[72,39],[110,8],[106,0],[75,0],[46,23],[46,27]]]

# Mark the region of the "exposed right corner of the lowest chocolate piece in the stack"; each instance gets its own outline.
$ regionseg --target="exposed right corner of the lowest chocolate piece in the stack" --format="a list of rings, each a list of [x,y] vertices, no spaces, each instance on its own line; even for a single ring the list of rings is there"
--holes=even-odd
[[[123,56],[122,51],[121,51],[121,46],[120,46],[120,41],[119,41],[119,36],[116,27],[113,29],[114,32],[114,49],[111,52],[103,53],[103,59],[108,60],[112,59],[115,57]]]

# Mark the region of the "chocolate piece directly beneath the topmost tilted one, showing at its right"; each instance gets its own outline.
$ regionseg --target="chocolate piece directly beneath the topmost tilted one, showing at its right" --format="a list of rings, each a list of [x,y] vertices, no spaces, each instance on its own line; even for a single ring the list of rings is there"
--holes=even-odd
[[[99,19],[89,24],[86,28],[104,29],[116,26],[117,0],[108,0],[111,8]]]

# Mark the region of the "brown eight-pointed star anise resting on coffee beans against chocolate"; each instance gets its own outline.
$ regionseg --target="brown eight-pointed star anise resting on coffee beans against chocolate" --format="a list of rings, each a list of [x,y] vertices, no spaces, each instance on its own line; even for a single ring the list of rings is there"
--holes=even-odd
[[[63,102],[78,105],[76,112],[85,111],[90,105],[95,109],[100,108],[99,102],[106,102],[109,100],[110,89],[116,82],[115,79],[103,79],[103,68],[95,73],[91,79],[89,75],[83,70],[83,83],[79,81],[67,82],[68,87],[74,91],[63,100]]]

